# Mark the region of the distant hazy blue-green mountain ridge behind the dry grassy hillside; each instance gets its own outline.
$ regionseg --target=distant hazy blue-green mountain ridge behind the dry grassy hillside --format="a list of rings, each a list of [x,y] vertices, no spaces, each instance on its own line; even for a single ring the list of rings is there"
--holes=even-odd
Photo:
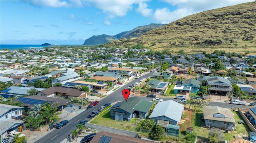
[[[166,25],[166,24],[149,24],[149,25],[144,25],[144,26],[138,26],[130,31],[125,31],[125,32],[119,33],[114,36],[105,35],[105,34],[94,35],[94,36],[86,39],[84,41],[83,45],[101,45],[101,44],[105,44],[107,42],[113,41],[115,39],[140,37],[147,31],[162,27],[164,25]]]

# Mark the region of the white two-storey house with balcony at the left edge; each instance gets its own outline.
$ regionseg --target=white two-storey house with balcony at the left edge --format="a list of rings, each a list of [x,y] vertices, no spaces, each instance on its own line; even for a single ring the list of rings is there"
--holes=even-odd
[[[7,133],[13,130],[17,130],[18,127],[22,126],[24,123],[22,118],[24,118],[22,110],[23,107],[12,106],[7,104],[0,104],[1,116],[0,116],[0,126],[1,126],[1,138],[5,138]]]

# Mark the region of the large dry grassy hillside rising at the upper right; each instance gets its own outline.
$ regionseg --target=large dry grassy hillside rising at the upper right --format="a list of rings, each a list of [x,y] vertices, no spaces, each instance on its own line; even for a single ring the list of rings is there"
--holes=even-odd
[[[254,2],[186,16],[132,40],[107,43],[120,47],[143,44],[154,50],[182,47],[255,47]]]

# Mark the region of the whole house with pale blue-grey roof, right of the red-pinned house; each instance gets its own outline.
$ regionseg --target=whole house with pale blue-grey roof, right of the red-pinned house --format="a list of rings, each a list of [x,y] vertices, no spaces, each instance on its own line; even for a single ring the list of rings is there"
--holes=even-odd
[[[161,125],[167,134],[179,134],[181,118],[184,106],[173,100],[158,102],[153,112],[148,117],[153,119],[156,124]]]

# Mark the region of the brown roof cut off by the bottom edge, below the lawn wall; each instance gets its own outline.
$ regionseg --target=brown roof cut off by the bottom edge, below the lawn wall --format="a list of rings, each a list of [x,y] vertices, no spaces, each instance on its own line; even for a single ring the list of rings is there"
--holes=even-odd
[[[144,139],[139,139],[135,137],[128,137],[124,135],[118,135],[114,133],[108,133],[104,131],[100,131],[93,137],[93,139],[90,141],[90,143],[99,143],[100,138],[102,137],[110,137],[110,141],[108,143],[156,143],[154,141],[148,141]]]

